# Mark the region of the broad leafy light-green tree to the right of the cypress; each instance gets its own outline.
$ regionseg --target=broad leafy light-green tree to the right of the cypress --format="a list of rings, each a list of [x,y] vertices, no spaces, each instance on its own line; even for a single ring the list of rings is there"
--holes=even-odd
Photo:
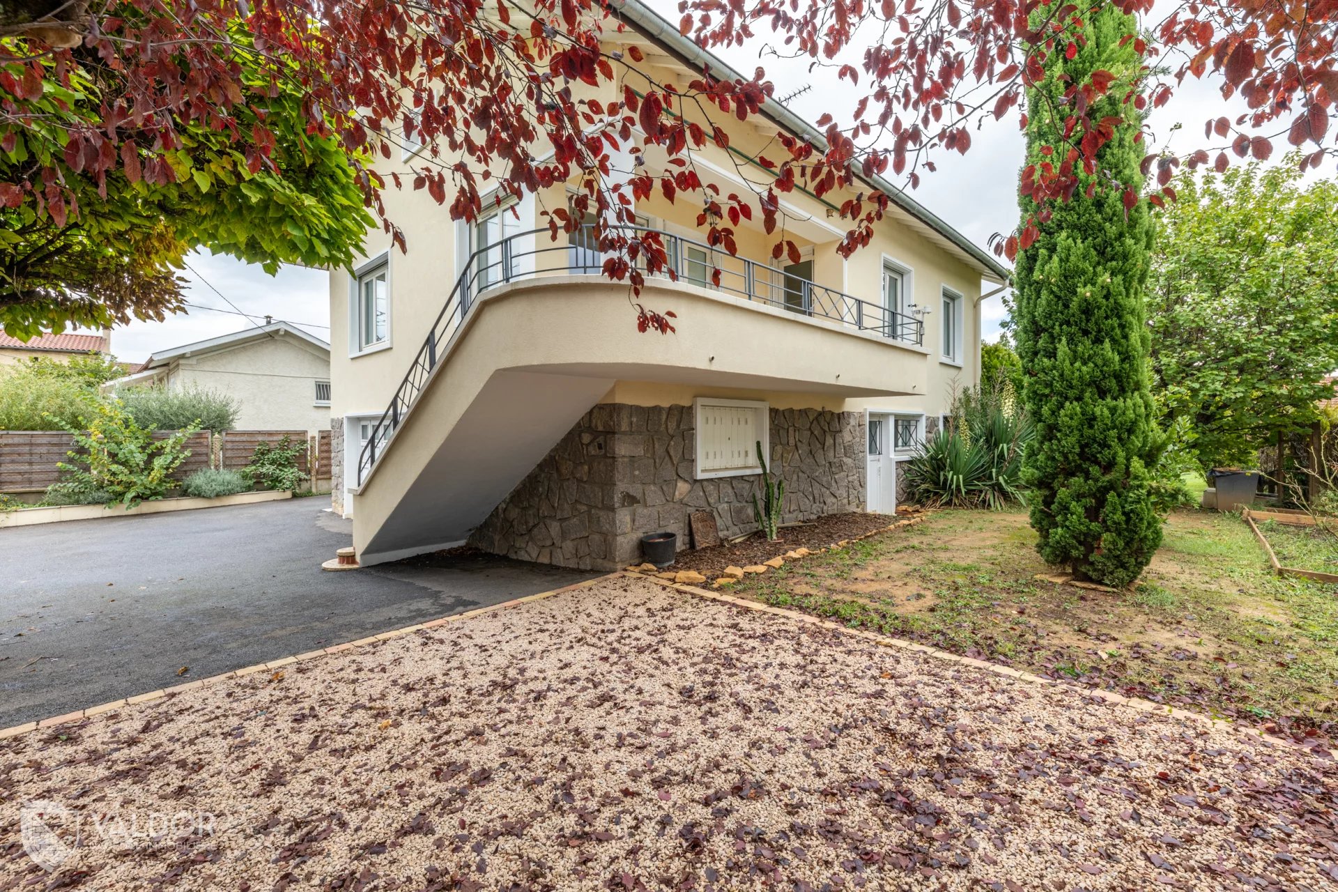
[[[1184,173],[1159,218],[1148,312],[1152,373],[1188,419],[1204,468],[1247,465],[1309,429],[1338,369],[1338,182],[1306,186],[1299,156]]]

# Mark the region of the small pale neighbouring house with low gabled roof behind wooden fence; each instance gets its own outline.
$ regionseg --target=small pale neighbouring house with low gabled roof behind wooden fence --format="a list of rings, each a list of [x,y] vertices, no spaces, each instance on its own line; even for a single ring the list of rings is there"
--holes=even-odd
[[[286,322],[158,350],[104,391],[199,386],[241,404],[241,431],[317,432],[330,424],[329,344]]]

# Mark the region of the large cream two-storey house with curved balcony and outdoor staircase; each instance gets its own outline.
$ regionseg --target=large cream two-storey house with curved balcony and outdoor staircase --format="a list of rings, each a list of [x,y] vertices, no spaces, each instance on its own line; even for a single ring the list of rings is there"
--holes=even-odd
[[[607,58],[634,43],[666,82],[702,67],[737,76],[646,7],[619,11],[629,31],[606,36]],[[645,88],[629,70],[621,80]],[[610,99],[622,88],[603,86]],[[721,194],[744,191],[739,158],[777,130],[822,143],[773,102],[748,123],[727,119],[731,148],[693,154]],[[656,171],[664,155],[641,163]],[[333,500],[353,518],[359,559],[468,540],[613,568],[640,560],[648,532],[688,547],[694,511],[724,535],[749,531],[757,441],[785,479],[784,522],[894,511],[898,461],[937,429],[953,388],[979,380],[982,280],[1008,270],[870,182],[894,205],[850,259],[835,211],[848,195],[784,195],[799,263],[768,259],[760,222],[736,227],[729,257],[704,245],[694,202],[638,201],[637,222],[670,237],[678,280],[649,278],[638,298],[677,314],[669,336],[637,333],[628,284],[599,275],[583,234],[550,239],[539,211],[566,202],[563,186],[474,225],[452,223],[425,190],[387,190],[408,251],[369,233],[353,274],[330,274]]]

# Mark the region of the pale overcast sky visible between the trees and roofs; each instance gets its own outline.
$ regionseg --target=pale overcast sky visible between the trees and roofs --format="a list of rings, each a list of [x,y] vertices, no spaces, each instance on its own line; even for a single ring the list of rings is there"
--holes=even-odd
[[[676,4],[656,0],[661,15],[676,20]],[[777,60],[760,55],[761,43],[749,48],[733,48],[721,53],[741,71],[752,71],[761,64],[776,84],[776,95],[784,96],[814,83],[814,88],[795,98],[791,108],[807,118],[818,119],[832,112],[838,122],[848,122],[858,99],[858,91],[848,84],[834,86],[824,74],[812,75],[803,63]],[[847,108],[834,96],[848,99]],[[1222,114],[1235,115],[1243,103],[1224,104],[1218,87],[1208,82],[1189,82],[1171,103],[1156,111],[1149,120],[1157,146],[1164,144],[1177,122],[1184,132],[1173,136],[1173,148],[1198,147],[1203,139],[1203,122]],[[1280,159],[1278,148],[1274,159]],[[938,152],[938,170],[922,173],[919,189],[911,195],[931,211],[962,231],[982,247],[987,247],[993,233],[1009,231],[1017,222],[1017,171],[1022,160],[1022,135],[1017,119],[990,122],[973,134],[971,150],[966,155]],[[1329,175],[1329,171],[1325,171]],[[443,209],[443,214],[447,211]],[[412,245],[411,245],[412,250]],[[235,332],[264,321],[264,317],[288,320],[308,332],[329,340],[328,274],[322,270],[284,267],[278,275],[268,275],[260,266],[241,263],[227,257],[195,254],[191,269],[183,271],[190,280],[189,314],[170,317],[165,322],[132,322],[112,334],[112,352],[118,358],[142,361],[154,350],[163,350],[218,334]],[[231,302],[231,305],[229,304]],[[250,316],[241,316],[234,306]],[[214,308],[213,310],[205,308]],[[226,312],[219,312],[226,310]],[[982,308],[983,337],[998,337],[1004,318],[1001,298],[990,298]]]

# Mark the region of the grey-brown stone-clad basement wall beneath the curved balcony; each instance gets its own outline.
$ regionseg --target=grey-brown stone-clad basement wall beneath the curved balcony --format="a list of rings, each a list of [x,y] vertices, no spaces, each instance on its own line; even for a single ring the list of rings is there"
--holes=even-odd
[[[713,511],[725,538],[756,530],[760,475],[696,480],[693,424],[690,405],[597,405],[470,543],[522,560],[611,570],[640,559],[648,532],[676,532],[686,548],[693,511]],[[862,412],[771,409],[784,522],[864,510],[866,437]]]

